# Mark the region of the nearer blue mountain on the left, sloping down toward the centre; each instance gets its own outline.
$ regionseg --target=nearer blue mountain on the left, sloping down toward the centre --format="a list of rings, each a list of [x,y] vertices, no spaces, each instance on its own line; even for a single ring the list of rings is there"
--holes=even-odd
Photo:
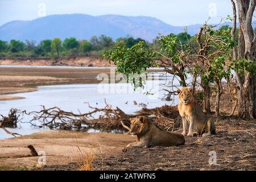
[[[75,36],[77,39],[90,39],[105,34],[118,38],[126,33],[100,18],[83,14],[51,15],[31,21],[14,21],[0,27],[0,39],[9,41],[36,40]]]

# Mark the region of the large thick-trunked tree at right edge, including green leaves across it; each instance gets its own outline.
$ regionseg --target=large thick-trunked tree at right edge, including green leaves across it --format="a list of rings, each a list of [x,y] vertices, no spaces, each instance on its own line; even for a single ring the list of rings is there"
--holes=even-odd
[[[233,39],[236,34],[237,11],[239,20],[238,46],[233,48],[234,69],[236,72],[238,115],[246,119],[256,118],[256,32],[251,22],[256,6],[255,0],[237,0],[233,7]],[[256,28],[255,28],[256,29]]]

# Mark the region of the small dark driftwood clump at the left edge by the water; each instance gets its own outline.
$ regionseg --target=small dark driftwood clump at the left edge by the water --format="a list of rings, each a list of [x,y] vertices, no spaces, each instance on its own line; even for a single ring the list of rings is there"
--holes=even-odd
[[[7,134],[13,135],[14,137],[16,137],[16,135],[21,136],[18,133],[10,132],[5,127],[5,126],[16,126],[16,124],[19,122],[19,116],[20,116],[19,111],[17,109],[11,109],[7,117],[1,114],[2,119],[0,119],[0,128],[2,128]]]

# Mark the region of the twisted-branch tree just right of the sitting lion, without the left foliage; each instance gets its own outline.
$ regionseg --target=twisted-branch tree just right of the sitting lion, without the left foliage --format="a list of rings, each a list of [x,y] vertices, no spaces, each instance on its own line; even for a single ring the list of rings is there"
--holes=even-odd
[[[234,46],[234,40],[230,35],[229,30],[220,29],[213,30],[213,26],[204,24],[197,34],[198,48],[196,54],[192,57],[196,58],[196,65],[199,70],[200,85],[204,93],[204,109],[210,112],[210,82],[216,82],[217,96],[216,96],[216,115],[220,115],[219,104],[220,96],[222,94],[222,78],[229,79],[232,65],[228,65],[226,69],[225,59],[230,57],[230,49]],[[193,51],[194,52],[194,51]],[[193,70],[193,67],[192,67]],[[196,76],[196,75],[194,75]],[[193,82],[195,85],[195,82]]]

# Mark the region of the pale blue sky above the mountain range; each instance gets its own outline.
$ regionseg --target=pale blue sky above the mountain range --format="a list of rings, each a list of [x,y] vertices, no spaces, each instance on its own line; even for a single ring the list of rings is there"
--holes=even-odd
[[[151,16],[174,26],[209,23],[232,15],[230,0],[0,0],[0,26],[53,14]]]

